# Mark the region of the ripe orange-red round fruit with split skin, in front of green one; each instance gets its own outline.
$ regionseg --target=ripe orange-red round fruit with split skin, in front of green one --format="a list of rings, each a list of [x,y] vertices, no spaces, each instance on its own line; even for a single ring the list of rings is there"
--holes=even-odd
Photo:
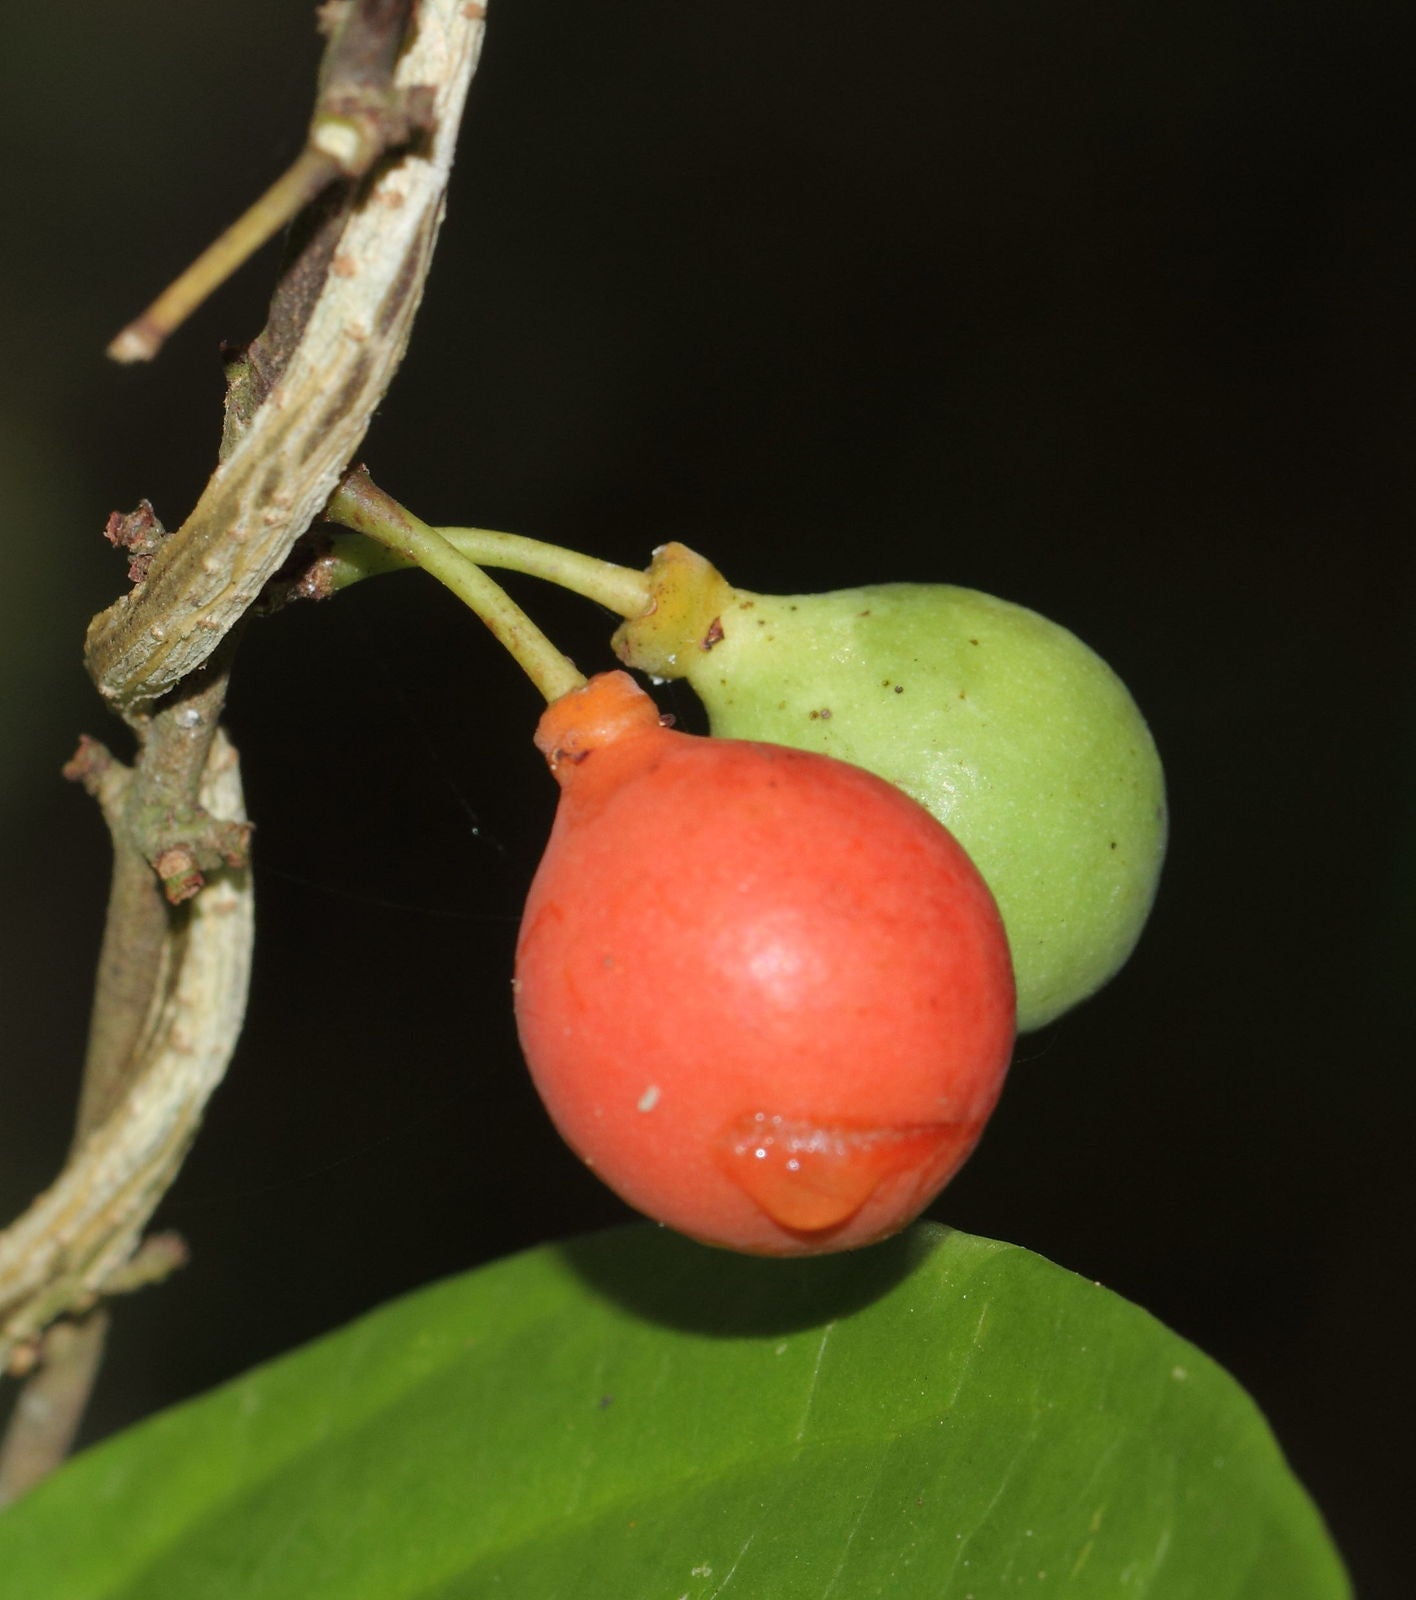
[[[1003,926],[954,835],[845,762],[674,733],[624,672],[555,701],[536,744],[562,795],[517,1026],[566,1142],[712,1245],[904,1227],[1013,1048]]]

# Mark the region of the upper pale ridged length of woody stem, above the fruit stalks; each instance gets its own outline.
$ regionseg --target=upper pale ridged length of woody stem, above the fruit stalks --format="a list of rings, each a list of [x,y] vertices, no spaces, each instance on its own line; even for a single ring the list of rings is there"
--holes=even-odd
[[[318,293],[280,378],[144,582],[88,632],[88,667],[118,707],[157,699],[195,670],[254,603],[334,491],[397,368],[442,222],[482,10],[422,0],[395,90],[430,88],[426,146],[376,166],[312,248]],[[290,341],[286,341],[290,342]],[[254,374],[259,378],[259,374]],[[240,405],[251,379],[237,379]]]

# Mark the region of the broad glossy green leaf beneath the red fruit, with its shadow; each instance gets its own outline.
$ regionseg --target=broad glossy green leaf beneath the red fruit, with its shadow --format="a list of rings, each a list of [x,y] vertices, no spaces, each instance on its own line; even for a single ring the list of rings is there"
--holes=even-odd
[[[410,1294],[0,1517],[24,1600],[1347,1595],[1253,1402],[1146,1312],[915,1227],[632,1227]]]

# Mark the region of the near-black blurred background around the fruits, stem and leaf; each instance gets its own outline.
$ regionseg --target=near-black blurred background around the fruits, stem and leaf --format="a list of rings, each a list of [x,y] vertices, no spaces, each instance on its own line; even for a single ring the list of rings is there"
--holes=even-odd
[[[1066,622],[1165,755],[1141,949],[1021,1043],[934,1208],[1139,1301],[1408,1592],[1416,8],[493,0],[450,219],[365,454],[432,520],[758,590],[971,584]],[[178,523],[216,346],[107,338],[294,154],[309,8],[24,8],[0,78],[0,1214],[62,1158],[107,853],[58,779],[98,538]],[[517,590],[581,664],[594,608]],[[691,722],[686,691],[669,704]],[[414,574],[254,627],[261,938],[232,1074],[88,1437],[400,1290],[618,1221],[520,1067],[536,701]]]

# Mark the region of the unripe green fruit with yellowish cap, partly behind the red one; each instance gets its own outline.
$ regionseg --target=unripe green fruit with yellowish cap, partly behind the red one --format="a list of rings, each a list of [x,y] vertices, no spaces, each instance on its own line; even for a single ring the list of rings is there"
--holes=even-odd
[[[1165,854],[1165,778],[1110,667],[1035,611],[944,584],[733,589],[682,544],[619,658],[683,677],[722,738],[824,750],[928,806],[994,891],[1019,1030],[1126,960]]]

